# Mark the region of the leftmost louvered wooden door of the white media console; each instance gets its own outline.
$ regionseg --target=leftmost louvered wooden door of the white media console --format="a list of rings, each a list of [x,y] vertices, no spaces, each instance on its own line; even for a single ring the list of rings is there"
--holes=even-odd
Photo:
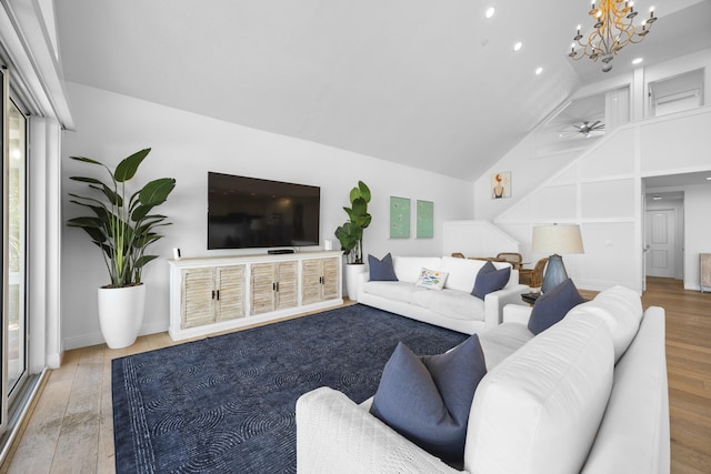
[[[214,322],[212,269],[182,271],[181,327],[194,327]]]

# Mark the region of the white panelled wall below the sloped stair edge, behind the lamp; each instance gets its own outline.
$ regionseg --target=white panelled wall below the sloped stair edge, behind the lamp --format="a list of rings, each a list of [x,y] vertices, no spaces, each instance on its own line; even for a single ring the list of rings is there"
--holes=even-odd
[[[531,231],[540,223],[581,224],[585,253],[563,255],[575,284],[603,290],[621,284],[642,291],[642,179],[652,175],[711,170],[707,151],[711,135],[711,108],[650,119],[623,125],[601,139],[591,150],[540,184],[527,199],[494,219],[521,242],[525,261],[541,256],[531,252]],[[703,194],[687,205],[685,222],[698,206],[701,219]],[[705,201],[705,205],[710,203]],[[705,214],[708,215],[708,213]],[[704,251],[703,225],[687,226],[687,269],[693,252]],[[698,282],[698,263],[697,282]]]

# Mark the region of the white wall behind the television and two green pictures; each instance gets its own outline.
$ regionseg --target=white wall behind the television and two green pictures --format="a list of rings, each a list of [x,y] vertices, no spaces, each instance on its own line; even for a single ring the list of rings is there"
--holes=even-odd
[[[333,231],[347,219],[342,206],[349,204],[349,192],[358,180],[364,181],[373,194],[369,206],[373,221],[364,233],[364,252],[378,256],[387,252],[439,255],[442,223],[470,219],[473,214],[470,182],[80,84],[70,83],[68,90],[77,131],[63,135],[63,220],[80,214],[80,209],[69,203],[67,193],[83,191],[69,177],[87,175],[91,169],[69,160],[70,155],[93,158],[113,168],[130,153],[151,147],[138,180],[141,183],[161,177],[177,180],[176,191],[160,208],[173,225],[166,228],[166,238],[152,249],[161,259],[149,264],[143,273],[148,294],[142,334],[168,329],[169,279],[164,259],[171,258],[172,248],[180,248],[183,256],[230,253],[206,250],[208,171],[321,186],[321,241],[331,239],[336,249],[339,244]],[[412,200],[410,239],[389,239],[390,195]],[[434,202],[433,239],[414,239],[418,199]],[[108,276],[99,250],[83,231],[64,226],[62,330],[66,349],[102,342],[96,289],[106,283]]]

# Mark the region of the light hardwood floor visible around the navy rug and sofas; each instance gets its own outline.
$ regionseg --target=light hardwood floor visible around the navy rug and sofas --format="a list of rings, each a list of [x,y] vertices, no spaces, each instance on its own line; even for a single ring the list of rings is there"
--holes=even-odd
[[[667,310],[671,472],[711,473],[711,293],[649,279],[642,301],[644,307]],[[47,379],[17,451],[0,472],[113,473],[111,360],[172,344],[161,333],[127,350],[69,351]]]

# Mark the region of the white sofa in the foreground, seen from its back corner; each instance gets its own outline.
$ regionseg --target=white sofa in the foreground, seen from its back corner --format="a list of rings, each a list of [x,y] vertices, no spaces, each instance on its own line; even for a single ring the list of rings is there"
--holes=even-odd
[[[530,311],[507,306],[504,323],[479,335],[488,373],[463,466],[373,416],[372,399],[358,405],[321,387],[297,402],[298,472],[669,473],[664,310],[642,315],[634,292],[613,288],[538,335],[525,325]]]

